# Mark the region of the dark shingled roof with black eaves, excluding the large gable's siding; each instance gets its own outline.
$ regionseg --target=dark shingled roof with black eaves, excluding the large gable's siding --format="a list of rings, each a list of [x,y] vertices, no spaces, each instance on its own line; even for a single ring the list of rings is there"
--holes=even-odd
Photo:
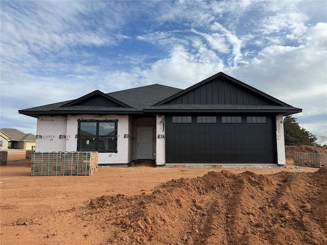
[[[210,103],[205,105],[193,105],[188,103],[169,103],[177,97],[188,95],[190,91],[193,91],[200,86],[205,86],[206,83],[211,82],[213,79],[218,77],[223,77],[229,82],[237,84],[239,87],[244,88],[253,94],[264,97],[266,100],[273,103],[267,105],[212,105]],[[99,102],[102,101],[102,99],[106,100],[105,103],[92,103],[95,99],[94,96],[96,96]],[[218,74],[185,90],[160,84],[131,88],[107,94],[95,90],[76,100],[19,110],[19,113],[37,117],[38,115],[142,114],[155,112],[271,112],[287,115],[301,111],[302,110],[299,108],[292,107],[268,94],[265,94],[264,92],[259,91],[258,89],[219,72]]]

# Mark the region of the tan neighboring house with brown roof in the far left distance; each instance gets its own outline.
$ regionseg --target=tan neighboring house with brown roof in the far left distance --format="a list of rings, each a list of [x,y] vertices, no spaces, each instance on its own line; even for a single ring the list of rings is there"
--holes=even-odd
[[[35,135],[17,129],[0,129],[0,149],[34,150]]]

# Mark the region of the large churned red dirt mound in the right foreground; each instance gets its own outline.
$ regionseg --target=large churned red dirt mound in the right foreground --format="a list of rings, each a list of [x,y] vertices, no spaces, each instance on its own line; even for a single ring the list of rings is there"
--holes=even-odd
[[[107,232],[103,244],[327,244],[326,176],[211,171],[91,200],[78,216]]]

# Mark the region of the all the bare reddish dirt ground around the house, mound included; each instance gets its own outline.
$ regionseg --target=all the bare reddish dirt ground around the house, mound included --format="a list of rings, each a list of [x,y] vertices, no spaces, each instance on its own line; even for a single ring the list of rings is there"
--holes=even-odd
[[[31,177],[25,152],[0,167],[0,243],[327,244],[327,167],[99,166]]]

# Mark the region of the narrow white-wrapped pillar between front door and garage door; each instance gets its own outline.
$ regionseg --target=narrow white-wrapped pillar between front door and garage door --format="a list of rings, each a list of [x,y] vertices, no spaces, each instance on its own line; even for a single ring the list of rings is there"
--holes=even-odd
[[[166,123],[164,115],[156,116],[156,165],[166,164]]]

